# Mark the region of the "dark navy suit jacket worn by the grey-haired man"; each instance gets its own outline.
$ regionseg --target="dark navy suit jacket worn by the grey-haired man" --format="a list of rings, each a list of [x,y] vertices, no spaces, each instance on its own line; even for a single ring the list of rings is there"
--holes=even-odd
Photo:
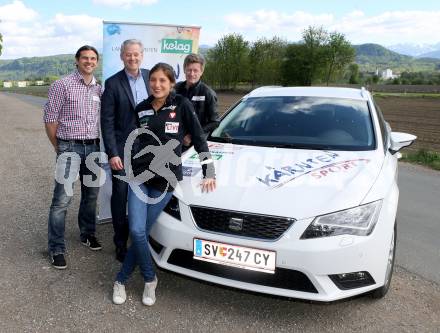
[[[148,95],[149,70],[141,69]],[[124,158],[124,145],[128,135],[137,128],[136,105],[125,70],[105,80],[101,100],[101,131],[108,158]]]

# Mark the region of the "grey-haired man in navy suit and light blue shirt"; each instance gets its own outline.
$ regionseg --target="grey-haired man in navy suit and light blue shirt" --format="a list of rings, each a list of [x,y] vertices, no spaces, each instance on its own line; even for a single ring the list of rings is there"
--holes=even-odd
[[[124,176],[124,145],[128,135],[137,128],[137,104],[149,95],[149,71],[141,69],[142,42],[129,39],[121,45],[124,69],[105,81],[101,106],[101,130],[112,174]],[[127,252],[128,222],[126,218],[128,184],[112,177],[111,213],[116,259],[123,261]]]

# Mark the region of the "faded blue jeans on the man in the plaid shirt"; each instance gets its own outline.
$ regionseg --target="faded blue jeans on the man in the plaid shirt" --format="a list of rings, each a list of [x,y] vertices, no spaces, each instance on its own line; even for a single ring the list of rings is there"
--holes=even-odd
[[[87,156],[92,152],[98,152],[99,146],[95,144],[78,144],[73,141],[58,140],[57,150],[57,174],[64,178],[55,180],[52,204],[49,210],[48,221],[48,248],[51,255],[65,253],[64,242],[65,219],[67,208],[73,196],[73,183],[78,174],[81,180],[81,202],[78,211],[78,225],[80,237],[85,241],[87,236],[94,236],[96,230],[96,200],[99,187],[85,186],[83,179],[85,175],[91,175],[91,180],[96,180],[96,175],[88,170],[85,164]],[[76,153],[67,157],[68,153]],[[67,189],[67,191],[66,191]]]

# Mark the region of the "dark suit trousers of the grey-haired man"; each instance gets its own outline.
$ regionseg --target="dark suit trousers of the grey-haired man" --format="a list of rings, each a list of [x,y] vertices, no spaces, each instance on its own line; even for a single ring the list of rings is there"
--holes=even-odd
[[[112,175],[125,175],[124,170],[112,170]],[[127,220],[128,184],[116,177],[112,177],[112,198],[110,202],[113,222],[113,242],[117,248],[127,248],[128,220]]]

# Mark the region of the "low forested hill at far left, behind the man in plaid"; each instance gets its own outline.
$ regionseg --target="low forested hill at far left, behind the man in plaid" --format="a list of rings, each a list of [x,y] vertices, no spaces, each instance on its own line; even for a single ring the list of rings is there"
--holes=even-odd
[[[0,80],[36,80],[48,76],[63,76],[75,69],[73,54],[60,54],[47,57],[0,60]],[[99,64],[96,77],[101,78]]]

